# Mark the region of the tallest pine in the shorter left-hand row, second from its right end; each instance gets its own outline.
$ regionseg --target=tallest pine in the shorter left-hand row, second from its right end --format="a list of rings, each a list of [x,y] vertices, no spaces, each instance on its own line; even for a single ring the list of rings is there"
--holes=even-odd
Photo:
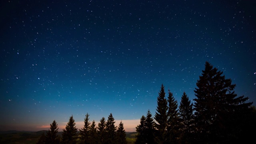
[[[116,143],[116,126],[115,126],[115,119],[112,116],[112,113],[108,116],[108,121],[106,122],[106,132],[107,132],[107,143],[108,144],[115,144]]]

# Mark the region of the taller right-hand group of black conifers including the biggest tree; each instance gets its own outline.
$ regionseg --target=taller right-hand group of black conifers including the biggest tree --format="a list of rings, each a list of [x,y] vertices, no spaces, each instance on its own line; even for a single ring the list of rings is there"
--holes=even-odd
[[[136,126],[135,144],[230,144],[254,140],[256,109],[235,84],[209,63],[196,83],[194,102],[184,92],[178,106],[162,84],[154,118],[150,110]]]

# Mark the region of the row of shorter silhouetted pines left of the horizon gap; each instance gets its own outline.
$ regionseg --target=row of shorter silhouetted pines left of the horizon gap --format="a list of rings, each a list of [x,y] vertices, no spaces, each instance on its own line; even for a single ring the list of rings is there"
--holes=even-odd
[[[115,126],[112,113],[107,121],[102,117],[98,127],[94,120],[89,121],[89,116],[88,113],[85,115],[84,127],[79,129],[79,132],[73,116],[70,116],[66,128],[63,129],[62,137],[57,135],[59,128],[54,120],[48,132],[42,134],[37,144],[127,144],[124,124],[121,121],[118,127]]]

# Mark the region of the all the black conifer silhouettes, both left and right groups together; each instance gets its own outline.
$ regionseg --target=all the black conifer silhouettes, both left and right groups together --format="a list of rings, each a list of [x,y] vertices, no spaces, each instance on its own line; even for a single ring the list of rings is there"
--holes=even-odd
[[[235,94],[236,85],[231,79],[206,62],[196,86],[194,102],[184,92],[178,106],[170,90],[166,96],[162,84],[154,117],[148,110],[136,126],[135,144],[229,144],[254,140],[256,108],[247,102],[248,97]],[[122,121],[115,126],[110,113],[96,126],[89,116],[87,113],[84,127],[79,130],[70,116],[62,136],[57,135],[58,124],[54,120],[37,144],[127,144]]]

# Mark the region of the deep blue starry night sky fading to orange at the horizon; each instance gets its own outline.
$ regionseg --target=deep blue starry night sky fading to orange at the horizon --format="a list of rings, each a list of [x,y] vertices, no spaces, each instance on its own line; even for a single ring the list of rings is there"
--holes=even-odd
[[[0,130],[60,130],[71,115],[126,132],[161,84],[191,101],[204,64],[256,102],[253,0],[1,0]]]

